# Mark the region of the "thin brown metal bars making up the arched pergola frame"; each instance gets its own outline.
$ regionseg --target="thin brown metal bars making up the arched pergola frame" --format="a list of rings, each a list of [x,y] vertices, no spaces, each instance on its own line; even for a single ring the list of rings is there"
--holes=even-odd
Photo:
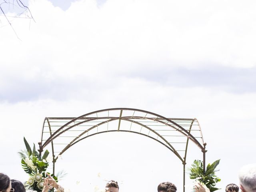
[[[119,117],[109,117],[109,112],[110,111],[114,111],[114,110],[120,110]],[[134,111],[134,112],[133,112],[132,116],[123,116],[122,117],[123,110],[129,110],[129,111]],[[98,113],[100,113],[100,112],[108,112],[108,117],[98,117]],[[135,112],[142,112],[142,113],[145,113],[146,115],[144,117],[134,116]],[[96,114],[96,117],[86,117],[86,116],[90,116],[92,114]],[[154,118],[146,117],[148,114],[150,114],[152,116],[155,116],[156,118],[155,117]],[[52,118],[52,119],[56,120],[56,118]],[[184,179],[183,179],[184,184],[185,184],[185,165],[186,165],[186,154],[187,154],[187,149],[188,149],[188,141],[191,140],[203,152],[203,159],[204,159],[203,162],[204,162],[204,172],[205,172],[205,153],[207,152],[207,150],[205,150],[206,143],[204,143],[203,136],[202,136],[202,130],[201,130],[200,124],[199,124],[199,122],[198,122],[198,120],[196,118],[194,118],[194,119],[165,118],[164,116],[160,116],[158,114],[155,114],[155,113],[152,113],[152,112],[148,112],[148,111],[145,111],[145,110],[139,110],[139,109],[133,109],[133,108],[110,108],[110,109],[104,109],[104,110],[98,110],[98,111],[90,112],[90,113],[84,114],[82,116],[79,116],[77,118],[57,118],[57,119],[70,120],[70,121],[66,122],[66,124],[64,124],[62,126],[60,125],[61,127],[57,126],[57,127],[60,127],[60,128],[58,128],[58,130],[54,130],[54,133],[52,133],[50,122],[49,122],[48,118],[45,118],[44,124],[43,124],[43,128],[42,128],[41,142],[38,143],[39,144],[39,150],[38,151],[40,153],[43,151],[44,147],[46,147],[49,143],[51,143],[52,144],[52,152],[53,152],[53,156],[54,156],[53,140],[55,138],[57,138],[58,136],[60,136],[64,132],[68,131],[69,129],[71,129],[71,128],[75,127],[75,126],[79,126],[80,124],[83,124],[84,122],[90,122],[92,120],[107,119],[104,122],[101,122],[101,123],[99,123],[97,125],[94,125],[94,126],[90,127],[88,130],[84,131],[82,134],[80,134],[79,136],[75,137],[74,140],[72,140],[69,144],[67,144],[67,146],[60,152],[60,154],[65,152],[68,148],[70,148],[71,146],[73,146],[77,142],[79,142],[81,140],[84,140],[85,138],[88,138],[88,137],[93,136],[95,134],[100,134],[100,133],[105,133],[105,132],[117,132],[117,131],[120,131],[120,132],[132,132],[132,133],[136,133],[136,134],[140,134],[140,135],[152,138],[152,139],[158,141],[159,143],[161,143],[162,145],[164,145],[165,147],[167,147],[169,150],[171,150],[182,161],[183,173],[184,173]],[[186,143],[186,150],[185,150],[184,159],[182,159],[180,157],[180,154],[175,150],[175,148],[170,144],[170,142],[168,142],[165,138],[163,138],[162,134],[159,134],[158,132],[156,132],[157,130],[155,131],[154,129],[151,129],[147,125],[142,124],[142,123],[137,122],[137,121],[134,121],[134,120],[131,120],[131,119],[137,119],[137,120],[138,119],[148,119],[148,120],[152,120],[152,121],[158,122],[160,124],[166,125],[166,126],[172,128],[172,129],[178,131],[180,134],[183,134],[184,136],[186,136],[187,139],[186,139],[186,142],[184,142],[184,143]],[[47,140],[42,145],[44,126],[45,126],[46,120],[48,122],[49,130],[50,130],[50,137],[47,138]],[[76,123],[76,120],[84,120],[84,121]],[[98,132],[98,130],[97,130],[97,133],[90,134],[90,135],[87,135],[87,136],[85,136],[83,138],[80,138],[80,136],[84,135],[89,130],[92,130],[92,129],[94,129],[94,128],[102,125],[102,124],[105,124],[105,123],[108,123],[108,122],[111,122],[111,121],[114,121],[114,120],[119,120],[118,130],[107,130],[107,131],[101,131],[101,132]],[[136,131],[131,131],[131,130],[130,131],[129,130],[120,130],[120,121],[121,120],[129,121],[129,122],[132,122],[132,123],[135,123],[135,124],[143,126],[144,128],[146,128],[149,131],[152,131],[154,134],[158,135],[158,137],[160,137],[166,143],[161,142],[160,140],[158,140],[158,138],[153,138],[152,136],[149,136],[149,134],[146,135],[144,133],[140,133],[140,132],[136,132]],[[184,126],[189,126],[189,124],[186,124],[186,123],[191,121],[189,130],[186,130],[185,128],[183,128],[182,127],[183,125],[180,124],[181,122],[178,121],[178,123],[180,125],[178,123],[176,123],[177,122],[176,120],[184,120],[185,121],[185,125]],[[72,122],[74,122],[74,125],[70,125]],[[200,134],[201,134],[201,137],[199,137],[199,138],[202,139],[203,146],[202,146],[202,144],[200,144],[199,140],[197,140],[196,137],[194,137],[190,133],[191,130],[192,130],[192,125],[193,125],[194,122],[198,122],[197,126],[199,127]],[[58,157],[54,158],[54,162],[53,163],[55,163],[57,159],[58,159]],[[54,169],[54,167],[53,167],[53,169]],[[183,191],[185,191],[184,186],[183,186]]]

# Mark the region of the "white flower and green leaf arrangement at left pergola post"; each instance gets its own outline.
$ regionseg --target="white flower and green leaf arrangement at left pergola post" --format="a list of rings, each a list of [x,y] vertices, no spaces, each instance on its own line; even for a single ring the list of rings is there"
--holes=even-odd
[[[21,158],[22,168],[29,175],[29,178],[25,183],[26,189],[41,192],[44,187],[44,178],[47,177],[46,169],[49,166],[49,162],[52,162],[52,158],[48,157],[48,150],[44,152],[43,156],[40,156],[36,151],[35,144],[33,146],[33,150],[31,150],[25,137],[24,143],[26,150],[21,150],[18,154]],[[58,182],[58,178],[56,176],[53,174],[50,175],[56,180],[56,182]]]

